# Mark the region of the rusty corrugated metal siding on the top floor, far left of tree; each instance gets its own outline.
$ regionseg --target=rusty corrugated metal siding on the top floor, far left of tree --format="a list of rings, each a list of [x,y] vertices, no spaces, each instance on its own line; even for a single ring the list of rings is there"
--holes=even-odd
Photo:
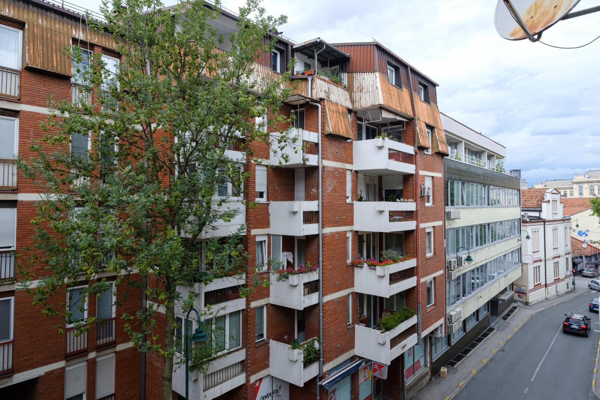
[[[115,41],[110,35],[87,29],[84,20],[36,4],[0,0],[0,14],[25,21],[23,53],[26,54],[26,65],[31,67],[71,75],[71,60],[62,55],[62,50],[71,46],[72,37],[115,49]]]

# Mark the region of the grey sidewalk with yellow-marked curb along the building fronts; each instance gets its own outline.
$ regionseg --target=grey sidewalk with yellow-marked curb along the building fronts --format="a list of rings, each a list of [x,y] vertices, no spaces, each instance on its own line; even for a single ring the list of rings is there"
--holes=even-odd
[[[464,385],[466,385],[481,368],[484,368],[491,357],[493,357],[494,354],[496,354],[497,351],[512,338],[512,335],[515,335],[521,326],[529,321],[529,318],[533,314],[583,294],[587,294],[587,291],[580,289],[560,297],[555,297],[551,300],[536,303],[532,306],[524,306],[515,303],[514,305],[518,306],[518,308],[512,313],[511,317],[506,321],[499,320],[500,322],[498,323],[497,329],[485,338],[478,347],[472,350],[469,353],[469,356],[464,357],[464,359],[456,366],[455,371],[451,372],[451,369],[448,369],[446,378],[440,378],[439,374],[435,375],[421,390],[416,392],[410,400],[450,400],[454,398]],[[600,357],[600,340],[598,341],[598,352],[598,357]],[[596,364],[598,364],[597,359]],[[596,366],[596,368],[598,368],[598,366]],[[600,371],[596,369],[594,372]],[[598,379],[600,379],[600,373],[598,373],[598,377],[595,378],[592,385],[595,385],[595,382]],[[595,386],[593,386],[592,389],[593,392],[596,391]],[[600,398],[600,388],[598,389],[598,395],[596,396]]]

